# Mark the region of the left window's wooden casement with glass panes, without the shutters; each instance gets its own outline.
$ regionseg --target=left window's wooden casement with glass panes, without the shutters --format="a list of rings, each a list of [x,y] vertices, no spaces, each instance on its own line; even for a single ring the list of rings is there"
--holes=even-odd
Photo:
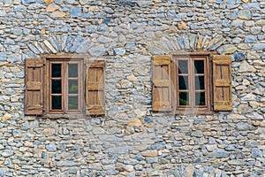
[[[83,61],[48,60],[48,113],[81,114],[83,110]]]

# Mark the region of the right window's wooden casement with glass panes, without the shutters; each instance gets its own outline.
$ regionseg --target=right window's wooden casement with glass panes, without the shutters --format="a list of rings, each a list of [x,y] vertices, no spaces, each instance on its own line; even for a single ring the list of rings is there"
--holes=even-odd
[[[173,56],[174,92],[177,112],[210,110],[209,56]]]

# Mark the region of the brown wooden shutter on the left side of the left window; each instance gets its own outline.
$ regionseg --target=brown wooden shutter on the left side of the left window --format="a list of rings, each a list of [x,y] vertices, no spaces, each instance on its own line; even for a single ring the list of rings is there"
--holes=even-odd
[[[26,93],[25,115],[42,115],[42,83],[43,60],[42,58],[26,59]]]

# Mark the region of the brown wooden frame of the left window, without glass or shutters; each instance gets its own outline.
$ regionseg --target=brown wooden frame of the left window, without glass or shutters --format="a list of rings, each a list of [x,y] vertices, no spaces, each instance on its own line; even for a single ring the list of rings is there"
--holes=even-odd
[[[51,65],[62,64],[62,110],[51,109]],[[67,96],[68,94],[68,64],[78,64],[79,75],[79,109],[75,111],[68,110]],[[84,82],[84,58],[46,58],[45,59],[45,74],[44,74],[44,117],[47,118],[79,118],[85,115],[85,82]]]

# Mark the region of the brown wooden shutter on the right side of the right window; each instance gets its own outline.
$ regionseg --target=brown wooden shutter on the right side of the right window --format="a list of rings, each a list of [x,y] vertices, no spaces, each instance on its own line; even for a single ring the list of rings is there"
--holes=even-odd
[[[231,111],[231,56],[213,56],[214,110]]]

